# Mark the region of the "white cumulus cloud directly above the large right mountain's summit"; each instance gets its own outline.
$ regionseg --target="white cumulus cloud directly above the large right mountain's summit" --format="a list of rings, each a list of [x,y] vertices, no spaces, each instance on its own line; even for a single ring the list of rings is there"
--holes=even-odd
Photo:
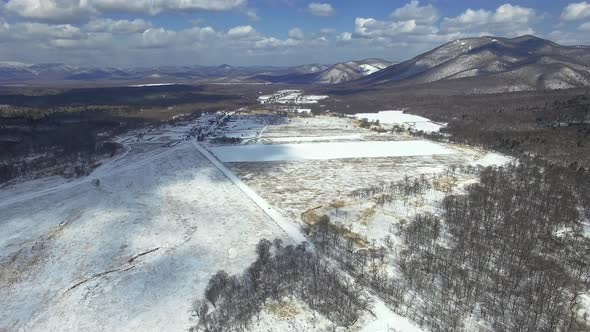
[[[445,17],[441,29],[445,32],[474,33],[486,31],[503,35],[532,34],[532,24],[538,19],[532,8],[504,4],[496,11],[467,9],[457,17]]]

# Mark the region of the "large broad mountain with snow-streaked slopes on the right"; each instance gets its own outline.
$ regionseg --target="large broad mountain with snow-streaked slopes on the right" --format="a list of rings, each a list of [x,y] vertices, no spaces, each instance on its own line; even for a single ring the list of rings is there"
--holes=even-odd
[[[492,92],[589,85],[590,48],[534,36],[460,39],[359,82],[411,85],[458,79],[473,82],[475,89],[485,83]]]

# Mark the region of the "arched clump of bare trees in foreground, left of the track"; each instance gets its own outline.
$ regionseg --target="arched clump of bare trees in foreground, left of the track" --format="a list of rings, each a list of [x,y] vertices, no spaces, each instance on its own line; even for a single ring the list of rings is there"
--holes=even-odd
[[[370,302],[353,279],[306,243],[284,246],[262,239],[257,258],[241,275],[219,271],[193,304],[191,331],[243,331],[271,300],[296,297],[339,326],[351,326]]]

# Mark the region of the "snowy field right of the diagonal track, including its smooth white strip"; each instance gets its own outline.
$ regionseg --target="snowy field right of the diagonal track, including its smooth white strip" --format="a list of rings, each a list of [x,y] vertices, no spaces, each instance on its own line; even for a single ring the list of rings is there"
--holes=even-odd
[[[262,197],[299,222],[308,209],[368,185],[405,175],[432,176],[452,165],[502,165],[510,160],[407,134],[375,133],[355,126],[350,118],[327,116],[269,125],[260,141],[269,144],[209,148]]]

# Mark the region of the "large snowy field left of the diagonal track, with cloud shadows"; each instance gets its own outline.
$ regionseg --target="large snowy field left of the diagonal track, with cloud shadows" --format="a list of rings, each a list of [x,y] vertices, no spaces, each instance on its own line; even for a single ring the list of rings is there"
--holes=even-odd
[[[213,273],[241,272],[259,239],[286,238],[191,143],[145,145],[98,187],[2,190],[0,330],[186,330]]]

